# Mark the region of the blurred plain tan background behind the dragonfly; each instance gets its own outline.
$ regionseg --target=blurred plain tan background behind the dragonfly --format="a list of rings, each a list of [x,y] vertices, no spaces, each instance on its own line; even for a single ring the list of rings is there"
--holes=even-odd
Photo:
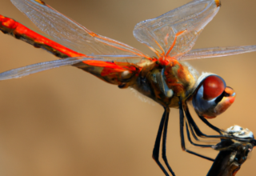
[[[150,50],[133,37],[136,23],[154,18],[187,0],[48,0],[50,6],[98,34]],[[194,48],[256,44],[256,2],[223,0]],[[9,0],[0,14],[31,23]],[[43,50],[0,34],[0,71],[55,59]],[[256,53],[191,61],[219,74],[237,92],[233,106],[211,120],[226,129],[238,124],[256,133]],[[162,107],[142,102],[73,67],[0,82],[0,175],[99,176],[163,175],[151,158]],[[193,114],[194,115],[194,114]],[[196,118],[198,119],[198,118]],[[206,126],[202,130],[211,133]],[[179,175],[206,175],[211,162],[182,152],[178,110],[171,110],[167,155]],[[212,150],[197,149],[213,157]],[[237,175],[254,175],[255,154]]]

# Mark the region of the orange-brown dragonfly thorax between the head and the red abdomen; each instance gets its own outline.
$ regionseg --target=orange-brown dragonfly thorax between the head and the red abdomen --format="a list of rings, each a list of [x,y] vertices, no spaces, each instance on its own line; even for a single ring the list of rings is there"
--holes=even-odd
[[[150,69],[142,70],[132,87],[162,106],[178,107],[180,97],[189,97],[194,91],[198,73],[176,59],[166,62],[163,65],[158,60],[148,66]]]

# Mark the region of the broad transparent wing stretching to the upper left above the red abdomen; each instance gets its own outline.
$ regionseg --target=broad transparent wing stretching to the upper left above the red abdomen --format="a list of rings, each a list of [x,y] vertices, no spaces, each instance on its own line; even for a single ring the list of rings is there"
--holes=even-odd
[[[149,58],[141,51],[122,42],[94,34],[72,19],[54,10],[41,0],[10,0],[14,6],[44,34],[71,50],[82,54],[136,55]]]

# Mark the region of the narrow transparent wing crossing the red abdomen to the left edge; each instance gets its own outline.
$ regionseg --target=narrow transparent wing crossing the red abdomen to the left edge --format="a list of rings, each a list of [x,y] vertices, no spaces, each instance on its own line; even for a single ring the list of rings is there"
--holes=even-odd
[[[0,74],[0,80],[22,78],[24,76],[35,74],[40,71],[50,70],[50,69],[58,68],[60,66],[71,66],[76,63],[87,61],[87,60],[113,62],[114,60],[117,60],[117,59],[118,59],[118,62],[122,62],[122,61],[127,62],[127,60],[131,63],[142,61],[142,59],[138,57],[127,58],[126,56],[122,56],[122,55],[115,56],[115,57],[102,56],[102,58],[84,58],[84,57],[63,58],[60,60],[54,60],[50,62],[40,62],[40,63],[32,64],[30,66],[23,66],[14,70],[8,70],[5,72],[2,72]]]

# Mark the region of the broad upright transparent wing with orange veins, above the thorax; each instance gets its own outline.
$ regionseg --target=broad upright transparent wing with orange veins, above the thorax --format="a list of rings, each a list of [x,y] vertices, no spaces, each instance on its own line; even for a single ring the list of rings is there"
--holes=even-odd
[[[191,50],[202,29],[218,13],[220,2],[218,0],[198,0],[189,2],[184,6],[162,14],[158,18],[139,22],[134,27],[134,37],[150,47],[158,55],[164,55],[170,51],[174,58],[182,57]]]

